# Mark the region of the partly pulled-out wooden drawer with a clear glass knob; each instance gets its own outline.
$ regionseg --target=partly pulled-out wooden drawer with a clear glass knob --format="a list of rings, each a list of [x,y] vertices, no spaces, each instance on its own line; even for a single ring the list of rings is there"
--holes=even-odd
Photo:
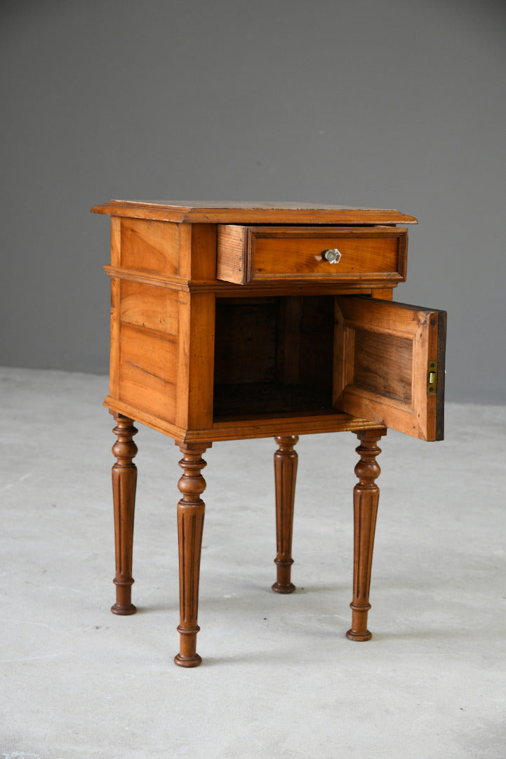
[[[218,225],[217,279],[251,282],[404,282],[408,230],[394,227]]]

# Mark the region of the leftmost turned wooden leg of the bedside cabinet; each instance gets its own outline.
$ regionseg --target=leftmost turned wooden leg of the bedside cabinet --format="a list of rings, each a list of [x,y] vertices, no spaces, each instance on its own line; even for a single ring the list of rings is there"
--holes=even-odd
[[[117,458],[112,468],[112,490],[114,498],[114,537],[116,543],[116,603],[111,607],[114,614],[135,614],[137,609],[132,603],[132,548],[133,515],[136,505],[137,468],[133,457],[137,446],[133,436],[137,430],[133,420],[114,414],[116,427],[114,434],[117,441],[112,452]]]

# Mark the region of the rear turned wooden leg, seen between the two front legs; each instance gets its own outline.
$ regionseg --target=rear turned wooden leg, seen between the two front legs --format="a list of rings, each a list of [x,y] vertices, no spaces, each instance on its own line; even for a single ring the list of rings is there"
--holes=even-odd
[[[293,503],[298,455],[294,446],[298,435],[276,435],[279,448],[274,454],[276,483],[276,559],[277,579],[273,584],[276,593],[292,593],[295,585],[290,581],[292,570]]]

